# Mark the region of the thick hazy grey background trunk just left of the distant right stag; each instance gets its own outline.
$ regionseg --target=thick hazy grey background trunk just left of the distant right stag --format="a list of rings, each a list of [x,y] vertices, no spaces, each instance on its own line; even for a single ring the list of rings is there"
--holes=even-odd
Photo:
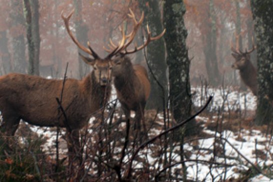
[[[205,66],[208,82],[216,86],[221,81],[216,57],[216,15],[213,0],[209,0],[208,33],[202,36],[205,44],[203,52],[205,55]]]

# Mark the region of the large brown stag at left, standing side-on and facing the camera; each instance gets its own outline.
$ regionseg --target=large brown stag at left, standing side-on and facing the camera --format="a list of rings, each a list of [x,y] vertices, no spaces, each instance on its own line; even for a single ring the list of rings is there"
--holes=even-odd
[[[69,29],[69,18],[73,12],[72,10],[67,17],[61,13],[61,17],[73,42],[93,57],[80,55],[93,70],[82,80],[67,79],[65,81],[61,105],[65,110],[66,120],[63,113],[58,111],[59,105],[56,102],[56,98],[61,93],[63,81],[11,73],[0,77],[0,111],[3,118],[0,130],[6,135],[14,135],[20,119],[32,125],[46,127],[66,127],[67,122],[72,130],[72,134],[67,136],[69,140],[67,147],[71,152],[74,148],[68,145],[69,142],[72,144],[70,137],[73,137],[74,147],[77,149],[78,129],[85,126],[90,115],[109,99],[111,58],[120,50],[115,49],[101,59],[89,43],[88,48],[80,44]]]

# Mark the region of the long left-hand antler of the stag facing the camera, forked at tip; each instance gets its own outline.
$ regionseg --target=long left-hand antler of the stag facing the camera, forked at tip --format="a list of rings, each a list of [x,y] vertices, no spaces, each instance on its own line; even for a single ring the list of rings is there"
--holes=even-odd
[[[90,47],[90,44],[89,42],[87,42],[88,44],[88,48],[83,46],[82,44],[80,44],[77,39],[73,36],[72,32],[70,31],[69,29],[69,19],[70,17],[72,16],[72,14],[74,13],[75,9],[72,9],[71,12],[66,16],[64,17],[63,15],[63,11],[61,11],[61,18],[63,19],[64,21],[64,24],[65,24],[65,28],[66,28],[66,31],[67,33],[69,34],[70,38],[73,40],[73,42],[78,46],[78,48],[80,48],[81,50],[83,50],[84,52],[90,54],[91,56],[93,56],[93,58],[97,59],[99,58],[99,56],[94,52],[94,50]]]

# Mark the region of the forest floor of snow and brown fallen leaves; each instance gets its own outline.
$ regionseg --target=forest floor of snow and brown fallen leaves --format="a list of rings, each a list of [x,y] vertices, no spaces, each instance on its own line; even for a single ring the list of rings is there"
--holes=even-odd
[[[206,102],[209,95],[213,95],[213,100],[203,113],[195,117],[198,124],[195,131],[198,131],[198,134],[184,139],[183,155],[187,180],[273,182],[270,180],[273,179],[272,126],[255,126],[255,96],[248,91],[235,90],[236,88],[232,87],[192,88],[193,113]],[[116,114],[116,118],[118,117]],[[146,128],[149,129],[148,138],[162,132],[162,113],[146,110],[145,120]],[[121,124],[119,130],[124,131],[124,128],[125,125]],[[31,130],[46,136],[47,142],[43,145],[45,150],[54,150],[55,132],[38,127],[31,127]],[[66,150],[63,141],[60,138],[59,150],[64,156]],[[142,156],[139,155],[140,161],[155,163],[158,160],[155,153],[161,150],[157,145],[160,145],[158,141],[143,150]],[[168,155],[171,155],[172,162],[179,162],[180,148],[178,145],[172,147],[172,153]],[[142,163],[135,165],[137,166],[143,168]],[[171,172],[179,173],[181,169],[181,164],[175,165]],[[182,177],[177,177],[180,178]]]

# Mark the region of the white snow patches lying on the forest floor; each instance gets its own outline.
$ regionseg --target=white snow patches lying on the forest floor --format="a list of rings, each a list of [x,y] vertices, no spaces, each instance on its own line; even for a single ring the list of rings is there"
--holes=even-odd
[[[114,90],[114,89],[113,89]],[[209,95],[213,95],[213,101],[212,104],[209,105],[210,111],[216,111],[218,107],[223,107],[224,111],[228,110],[252,110],[254,111],[256,108],[256,98],[253,96],[252,93],[249,92],[237,92],[232,91],[232,88],[228,89],[212,89],[208,88],[206,91],[202,88],[192,88],[192,92],[196,92],[193,95],[193,104],[195,106],[202,106],[206,102],[206,98],[208,98]],[[112,99],[115,99],[115,95],[111,97]],[[133,116],[132,116],[133,117]],[[158,118],[161,116],[158,114]],[[206,117],[196,117],[197,121],[203,121],[207,122],[208,118]],[[49,140],[47,141],[47,144],[45,146],[51,146],[55,143],[55,133],[50,132],[47,130],[44,132],[41,129],[38,129],[37,127],[31,127],[33,131],[47,135]],[[159,134],[161,131],[156,130],[154,128],[151,129],[151,133],[157,133]],[[208,130],[204,128],[204,132],[207,134],[214,135],[214,131]],[[271,158],[271,155],[273,154],[273,149],[271,146],[271,141],[269,138],[266,138],[264,135],[260,133],[260,131],[251,131],[247,130],[241,131],[241,137],[244,140],[237,140],[237,133],[233,133],[231,131],[223,131],[222,137],[228,140],[232,146],[234,146],[244,157],[246,157],[249,161],[252,163],[258,163],[260,166],[263,165],[271,165],[273,164],[273,159]],[[217,134],[219,137],[219,134]],[[263,142],[263,144],[258,143],[256,145],[256,149],[259,150],[265,150],[267,149],[266,153],[266,160],[259,159],[255,157],[255,153],[253,152],[255,150],[255,140],[258,142]],[[193,151],[192,155],[190,156],[190,159],[195,160],[206,160],[209,161],[213,154],[201,150],[201,149],[213,149],[213,143],[214,143],[214,137],[207,138],[207,139],[200,139],[198,140],[199,143],[199,149],[200,150],[193,150],[192,146],[185,144],[184,150],[185,151]],[[224,160],[223,157],[216,157],[215,161],[221,164],[229,164],[232,165],[232,167],[227,168],[225,177],[226,179],[229,179],[231,177],[238,178],[239,172],[241,169],[246,170],[250,167],[247,162],[239,157],[238,153],[227,143],[224,144],[225,147],[225,156],[227,159]],[[174,157],[176,160],[179,160],[179,156]],[[154,161],[154,159],[150,156],[147,157],[149,161]],[[240,159],[240,160],[238,160]],[[192,179],[195,181],[211,181],[212,176],[215,177],[215,181],[220,180],[220,177],[222,177],[222,174],[224,173],[224,168],[214,168],[212,170],[212,174],[209,173],[208,165],[203,165],[201,163],[196,164],[196,162],[188,162],[187,163],[187,177],[188,179]],[[176,167],[177,168],[177,167]],[[179,168],[179,166],[178,166]],[[217,176],[218,175],[218,176]],[[273,182],[273,180],[268,179],[267,177],[263,175],[257,175],[256,177],[252,178],[250,182]]]

